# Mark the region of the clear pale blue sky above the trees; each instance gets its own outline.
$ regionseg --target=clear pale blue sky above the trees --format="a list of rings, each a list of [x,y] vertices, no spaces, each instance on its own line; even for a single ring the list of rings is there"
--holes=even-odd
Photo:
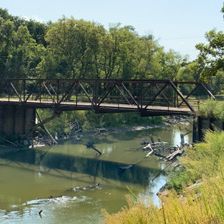
[[[15,16],[56,21],[73,16],[103,24],[132,25],[140,35],[153,34],[165,49],[194,59],[195,44],[205,32],[223,30],[224,0],[0,0]]]

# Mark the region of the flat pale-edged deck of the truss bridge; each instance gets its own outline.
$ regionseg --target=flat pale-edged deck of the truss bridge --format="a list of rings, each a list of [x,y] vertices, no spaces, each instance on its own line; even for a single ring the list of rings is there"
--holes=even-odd
[[[169,107],[169,106],[148,106],[138,107],[134,104],[114,104],[101,103],[94,105],[90,102],[61,102],[60,104],[52,101],[42,100],[28,100],[21,102],[19,99],[0,98],[0,105],[17,105],[32,108],[57,108],[62,111],[71,110],[94,110],[97,113],[119,113],[119,112],[139,112],[143,116],[147,115],[192,115],[192,111],[186,107]]]

